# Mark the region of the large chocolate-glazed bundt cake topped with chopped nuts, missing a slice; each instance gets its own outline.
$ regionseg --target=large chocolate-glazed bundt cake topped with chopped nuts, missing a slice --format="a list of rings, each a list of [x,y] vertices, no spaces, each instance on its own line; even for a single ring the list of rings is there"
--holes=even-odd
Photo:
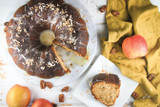
[[[42,78],[69,72],[55,45],[82,57],[87,54],[86,23],[75,8],[63,0],[30,0],[17,9],[5,32],[15,64]]]

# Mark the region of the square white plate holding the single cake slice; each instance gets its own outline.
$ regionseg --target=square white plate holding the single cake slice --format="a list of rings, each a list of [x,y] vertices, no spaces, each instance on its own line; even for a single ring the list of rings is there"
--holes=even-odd
[[[73,96],[90,107],[105,107],[104,104],[94,99],[93,95],[90,92],[89,86],[92,78],[102,71],[116,74],[121,80],[119,97],[117,98],[114,107],[123,107],[124,103],[127,102],[130,95],[137,87],[138,83],[123,76],[119,68],[102,55],[98,57],[94,65],[76,87],[76,89],[72,93]]]

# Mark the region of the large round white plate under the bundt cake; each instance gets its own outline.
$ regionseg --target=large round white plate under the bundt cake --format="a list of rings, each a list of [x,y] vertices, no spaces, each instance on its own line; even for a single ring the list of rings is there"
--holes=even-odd
[[[16,11],[16,9],[18,7],[20,7],[21,5],[25,4],[27,1],[28,0],[21,0],[20,2],[18,2],[16,4],[16,6],[14,6],[14,9],[12,9],[12,11],[10,12],[10,15],[7,19],[8,20],[11,19],[12,15]],[[91,62],[95,56],[96,48],[97,48],[96,28],[95,28],[95,25],[89,15],[87,9],[81,3],[79,3],[77,0],[64,0],[64,1],[71,4],[72,6],[76,7],[77,10],[80,12],[82,18],[86,21],[88,32],[89,32],[89,43],[88,43],[88,47],[87,47],[89,60],[85,61],[84,58],[78,57],[78,56],[76,56],[72,53],[68,53],[66,51],[64,54],[64,50],[58,49],[60,52],[59,54],[62,55],[62,59],[64,60],[65,64],[71,70],[71,73],[65,74],[64,76],[58,77],[58,78],[55,77],[55,78],[51,78],[51,79],[46,79],[46,81],[52,82],[54,84],[54,86],[64,85],[68,82],[74,81],[79,76],[81,76],[86,71],[86,69],[89,67],[89,65],[91,64]],[[18,75],[19,77],[25,79],[27,82],[30,82],[31,84],[39,85],[39,81],[42,78],[28,75],[25,71],[23,71],[19,67],[17,67],[15,65],[15,63],[13,62],[11,56],[9,55],[9,53],[7,51],[7,43],[5,40],[5,33],[4,32],[2,32],[2,36],[0,36],[0,39],[2,40],[2,43],[3,43],[3,45],[0,46],[3,50],[3,51],[1,51],[2,58],[5,59],[5,61],[6,61],[5,63],[8,65],[7,70],[12,72],[12,76]],[[73,65],[70,66],[70,64],[73,64]]]

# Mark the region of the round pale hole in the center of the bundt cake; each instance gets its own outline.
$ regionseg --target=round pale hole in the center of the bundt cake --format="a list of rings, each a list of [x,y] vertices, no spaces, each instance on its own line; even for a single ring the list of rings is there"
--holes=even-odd
[[[55,40],[55,34],[52,30],[44,30],[40,33],[40,42],[42,45],[51,46]]]

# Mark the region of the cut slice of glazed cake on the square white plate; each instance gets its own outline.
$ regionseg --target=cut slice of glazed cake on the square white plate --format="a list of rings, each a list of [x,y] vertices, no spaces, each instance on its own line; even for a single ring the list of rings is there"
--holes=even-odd
[[[117,75],[101,73],[94,76],[91,93],[96,100],[106,106],[114,105],[119,96],[121,82]]]

